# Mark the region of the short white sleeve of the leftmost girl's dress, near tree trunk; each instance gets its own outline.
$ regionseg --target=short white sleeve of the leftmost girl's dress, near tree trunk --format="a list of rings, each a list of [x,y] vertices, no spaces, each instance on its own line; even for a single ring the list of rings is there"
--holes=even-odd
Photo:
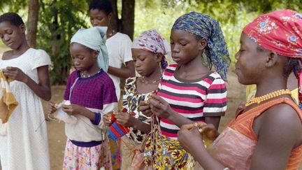
[[[39,66],[48,66],[51,64],[50,56],[44,50],[36,50],[33,56],[31,69],[36,69]]]

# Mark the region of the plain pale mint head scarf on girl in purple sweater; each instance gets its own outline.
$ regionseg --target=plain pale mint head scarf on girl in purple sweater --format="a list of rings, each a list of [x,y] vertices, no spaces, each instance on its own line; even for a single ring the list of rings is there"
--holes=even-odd
[[[71,38],[71,43],[80,43],[87,48],[99,51],[97,57],[98,65],[103,71],[108,71],[109,59],[106,48],[107,27],[92,27],[89,29],[79,29]]]

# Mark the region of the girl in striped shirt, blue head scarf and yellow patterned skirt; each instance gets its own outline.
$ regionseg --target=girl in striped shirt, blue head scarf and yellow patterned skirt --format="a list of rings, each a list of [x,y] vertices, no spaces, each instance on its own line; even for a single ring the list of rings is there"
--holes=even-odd
[[[179,143],[175,140],[182,125],[206,122],[218,129],[220,117],[227,109],[224,80],[231,61],[220,25],[208,15],[196,12],[182,15],[173,24],[170,38],[172,58],[177,64],[167,67],[159,83],[159,92],[141,102],[141,111],[145,114],[152,112],[160,118],[162,136],[159,139],[166,143],[162,147],[176,150]],[[212,64],[218,73],[210,70]],[[182,153],[182,148],[178,151]],[[154,150],[145,148],[145,152],[153,153]],[[162,164],[168,168],[184,167],[187,158],[180,158],[187,154],[175,157],[176,154],[172,152],[168,158],[175,164],[166,164],[164,155],[155,157],[155,160],[148,157],[145,163],[156,162],[152,164],[153,168],[161,168]]]

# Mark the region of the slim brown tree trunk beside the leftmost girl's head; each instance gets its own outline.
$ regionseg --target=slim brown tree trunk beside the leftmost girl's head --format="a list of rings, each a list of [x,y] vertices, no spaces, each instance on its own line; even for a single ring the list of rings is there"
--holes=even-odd
[[[38,25],[38,0],[29,0],[29,14],[27,19],[27,42],[31,48],[36,48],[36,34]]]

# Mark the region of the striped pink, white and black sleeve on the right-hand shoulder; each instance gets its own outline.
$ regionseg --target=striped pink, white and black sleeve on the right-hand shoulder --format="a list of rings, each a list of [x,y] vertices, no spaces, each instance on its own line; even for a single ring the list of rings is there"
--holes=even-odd
[[[216,78],[208,87],[203,115],[222,116],[225,111],[227,111],[227,87],[224,80]]]

